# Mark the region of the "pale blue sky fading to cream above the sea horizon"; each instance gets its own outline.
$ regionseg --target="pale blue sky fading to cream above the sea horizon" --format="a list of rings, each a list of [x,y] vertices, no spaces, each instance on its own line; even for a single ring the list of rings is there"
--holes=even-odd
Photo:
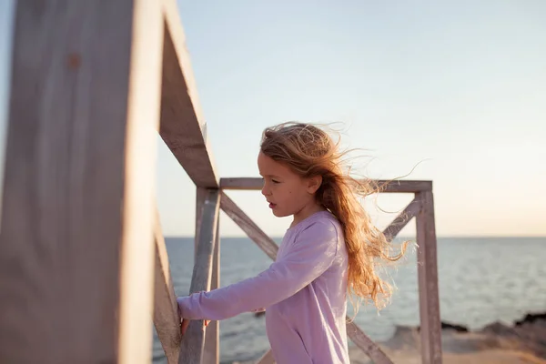
[[[177,4],[220,177],[258,177],[267,126],[336,123],[360,176],[433,181],[438,236],[546,236],[546,2]],[[0,1],[2,138],[13,5]],[[195,187],[159,137],[157,151],[164,234],[193,236]],[[271,236],[291,221],[259,191],[227,195]],[[366,207],[386,227],[410,200]],[[220,228],[244,235],[223,213]]]

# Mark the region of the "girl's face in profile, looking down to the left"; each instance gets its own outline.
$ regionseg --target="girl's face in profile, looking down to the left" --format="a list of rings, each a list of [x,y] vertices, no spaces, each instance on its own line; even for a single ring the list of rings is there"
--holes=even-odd
[[[319,205],[315,201],[315,192],[320,187],[320,177],[299,177],[288,166],[262,152],[258,155],[258,169],[264,177],[262,194],[268,200],[273,215],[294,215],[294,221],[298,222],[316,212]]]

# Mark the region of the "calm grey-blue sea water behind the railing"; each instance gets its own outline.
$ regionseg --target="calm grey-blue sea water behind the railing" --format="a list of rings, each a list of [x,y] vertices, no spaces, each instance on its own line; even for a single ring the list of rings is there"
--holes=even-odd
[[[193,238],[166,239],[178,296],[189,290],[193,244]],[[222,238],[220,259],[221,286],[252,277],[271,264],[248,238]],[[442,320],[480,329],[546,311],[546,238],[439,238],[438,259]],[[420,322],[415,252],[389,268],[389,277],[396,284],[390,305],[379,313],[363,306],[355,319],[371,339],[389,339],[396,326]],[[155,332],[153,345],[154,363],[167,363]],[[263,316],[245,313],[220,322],[220,362],[258,359],[268,348]]]

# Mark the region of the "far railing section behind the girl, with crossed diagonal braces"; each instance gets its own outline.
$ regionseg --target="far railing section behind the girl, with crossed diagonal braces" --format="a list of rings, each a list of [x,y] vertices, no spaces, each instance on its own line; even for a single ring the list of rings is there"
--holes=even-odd
[[[383,186],[382,192],[414,193],[415,197],[383,233],[395,238],[411,218],[417,217],[418,275],[420,288],[421,355],[423,363],[441,362],[440,304],[438,295],[438,275],[436,261],[436,236],[434,229],[434,207],[432,183],[430,181],[376,181]],[[220,188],[261,189],[261,178],[222,178]],[[240,227],[261,248],[269,258],[275,259],[278,247],[252,220],[222,191],[220,207],[228,217]],[[347,324],[349,338],[364,350],[375,363],[391,363],[391,360],[369,337],[353,322]],[[265,355],[258,363],[269,363],[270,355]]]

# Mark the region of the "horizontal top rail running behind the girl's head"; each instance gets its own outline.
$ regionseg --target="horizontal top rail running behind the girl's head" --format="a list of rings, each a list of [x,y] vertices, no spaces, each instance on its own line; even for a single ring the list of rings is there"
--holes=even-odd
[[[380,187],[380,192],[412,193],[432,190],[431,181],[414,180],[374,180]],[[220,178],[221,189],[261,189],[263,179],[260,177]]]

